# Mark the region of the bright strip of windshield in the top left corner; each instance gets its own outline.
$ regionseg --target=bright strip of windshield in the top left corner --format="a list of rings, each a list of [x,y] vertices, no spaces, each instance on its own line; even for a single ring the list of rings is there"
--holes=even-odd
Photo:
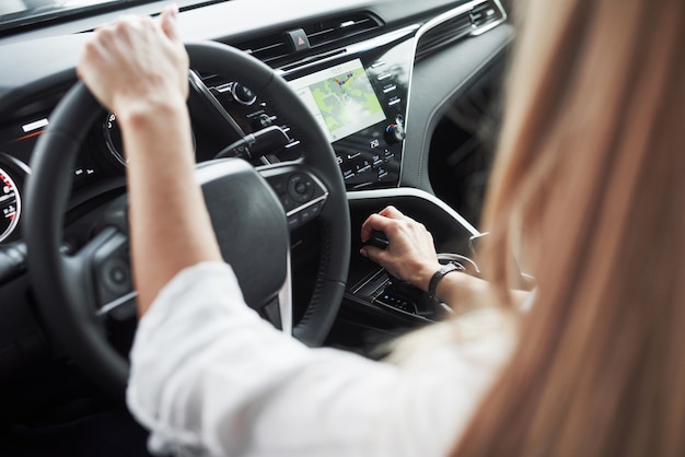
[[[1,0],[0,30],[79,13],[103,5],[138,2],[140,0]]]

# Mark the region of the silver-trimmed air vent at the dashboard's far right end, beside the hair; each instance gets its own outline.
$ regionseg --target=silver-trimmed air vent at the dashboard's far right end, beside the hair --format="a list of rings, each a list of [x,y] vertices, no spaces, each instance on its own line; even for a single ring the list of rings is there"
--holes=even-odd
[[[484,1],[468,11],[458,14],[446,13],[444,19],[421,35],[416,51],[420,60],[437,50],[469,35],[486,32],[506,17],[492,0]]]

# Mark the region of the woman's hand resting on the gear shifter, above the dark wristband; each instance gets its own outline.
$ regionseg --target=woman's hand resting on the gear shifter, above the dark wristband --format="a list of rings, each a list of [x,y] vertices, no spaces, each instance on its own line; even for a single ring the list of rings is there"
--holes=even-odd
[[[369,241],[372,230],[385,233],[390,244],[386,249],[364,246],[360,254],[381,265],[392,276],[428,291],[430,278],[440,268],[430,232],[395,207],[387,207],[364,221],[361,225],[362,243]]]

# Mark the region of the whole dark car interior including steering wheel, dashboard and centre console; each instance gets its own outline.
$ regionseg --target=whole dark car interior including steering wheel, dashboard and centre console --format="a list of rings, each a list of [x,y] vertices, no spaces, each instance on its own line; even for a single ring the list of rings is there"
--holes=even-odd
[[[127,157],[116,116],[74,68],[97,26],[169,4],[0,5],[0,443],[48,429],[67,440],[62,424],[125,409],[137,325]],[[444,318],[359,254],[360,226],[395,206],[432,233],[442,262],[480,273],[509,4],[176,4],[197,179],[248,305],[306,344],[374,359]],[[91,433],[78,430],[70,438]]]

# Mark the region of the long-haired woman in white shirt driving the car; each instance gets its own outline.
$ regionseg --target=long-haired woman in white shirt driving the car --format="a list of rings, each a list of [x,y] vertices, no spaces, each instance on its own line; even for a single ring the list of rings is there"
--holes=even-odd
[[[436,292],[489,306],[403,341],[397,364],[305,348],[246,308],[198,221],[199,189],[182,185],[194,163],[174,12],[96,34],[79,74],[117,114],[130,159],[142,317],[128,402],[152,450],[685,453],[685,7],[527,7],[486,209],[491,285],[451,273]],[[363,254],[427,290],[438,265],[425,228],[394,209],[362,239],[371,228],[392,248]],[[536,277],[523,315],[501,261],[512,250]]]

